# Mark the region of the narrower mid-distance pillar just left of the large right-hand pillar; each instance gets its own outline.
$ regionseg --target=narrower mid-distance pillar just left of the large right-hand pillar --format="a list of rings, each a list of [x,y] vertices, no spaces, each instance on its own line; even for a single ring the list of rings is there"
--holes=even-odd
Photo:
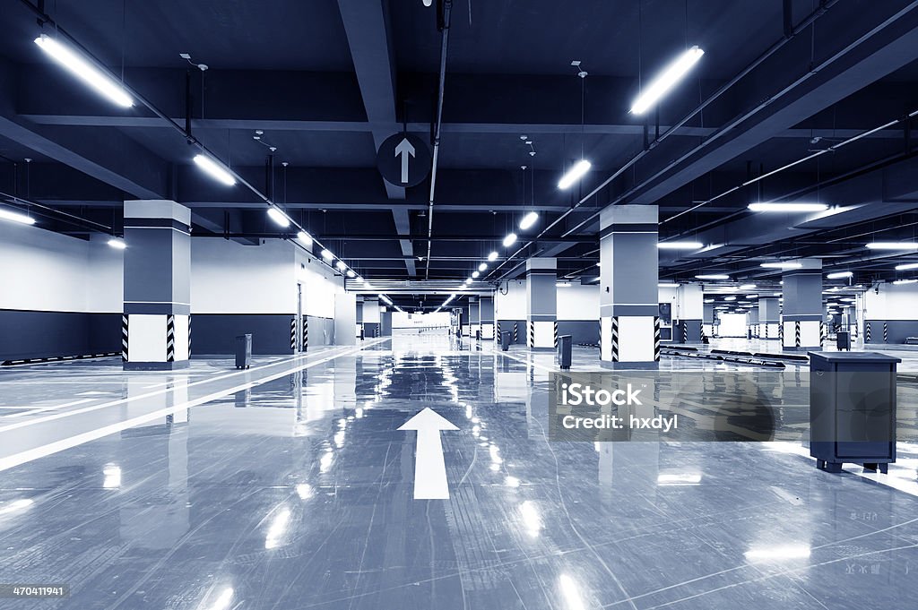
[[[526,261],[526,345],[554,350],[558,341],[557,267],[555,259]]]

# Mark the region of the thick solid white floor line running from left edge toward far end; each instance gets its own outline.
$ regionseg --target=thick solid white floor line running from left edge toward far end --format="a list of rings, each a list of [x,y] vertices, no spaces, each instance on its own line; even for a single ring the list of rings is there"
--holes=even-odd
[[[212,394],[199,396],[193,400],[185,401],[184,403],[180,403],[178,405],[172,405],[164,409],[160,409],[158,411],[153,411],[151,413],[144,414],[142,416],[137,416],[137,417],[132,417],[130,419],[126,419],[116,424],[110,424],[108,426],[96,428],[95,430],[90,430],[89,432],[78,434],[75,437],[63,438],[62,440],[57,440],[55,442],[49,443],[47,445],[43,445],[41,447],[36,447],[34,449],[28,449],[26,451],[21,451],[19,453],[8,456],[6,458],[0,458],[0,471],[6,471],[10,468],[14,468],[16,466],[24,464],[28,461],[39,460],[40,458],[45,458],[49,455],[58,453],[66,449],[72,449],[73,447],[82,445],[92,440],[98,440],[99,438],[107,437],[109,434],[115,434],[116,432],[120,432],[121,430],[126,430],[129,427],[140,426],[141,424],[146,424],[151,421],[161,419],[165,416],[174,415],[175,413],[178,413],[179,411],[190,409],[193,406],[204,405],[206,403],[209,403],[212,400],[216,400],[228,394],[235,394],[237,392],[241,392],[242,390],[248,387],[252,387],[252,383],[256,385],[260,385],[262,383],[272,382],[275,379],[280,379],[281,377],[285,377],[286,375],[289,375],[291,373],[305,371],[306,369],[310,369],[314,366],[319,366],[319,364],[324,364],[325,362],[329,362],[330,360],[341,358],[342,356],[350,356],[359,351],[362,351],[364,348],[370,347],[371,345],[375,345],[375,343],[379,343],[379,342],[386,341],[386,340],[388,340],[387,337],[380,338],[374,343],[366,343],[364,345],[359,346],[357,349],[348,349],[345,351],[341,351],[340,353],[332,354],[331,356],[328,356],[326,358],[322,358],[322,359],[315,360],[312,362],[307,362],[306,364],[303,364],[303,365],[298,365],[297,367],[284,371],[284,372],[278,372],[272,375],[268,375],[267,377],[264,377],[263,379],[257,382],[248,381],[246,383],[241,383],[240,385],[236,385],[236,386],[233,386],[225,390],[220,390]],[[285,361],[288,361],[288,360],[285,360]],[[274,362],[274,363],[278,364],[279,362]],[[253,369],[250,369],[249,371],[252,371],[252,370]],[[241,371],[241,372],[245,372],[245,371]],[[229,375],[224,375],[223,377],[227,377],[227,376]],[[222,379],[223,377],[220,377],[220,379]],[[187,386],[183,386],[183,387],[187,387]],[[156,394],[162,394],[162,393],[156,393]],[[135,397],[129,400],[137,400],[137,398],[138,397]],[[47,420],[48,418],[44,418],[44,419]]]

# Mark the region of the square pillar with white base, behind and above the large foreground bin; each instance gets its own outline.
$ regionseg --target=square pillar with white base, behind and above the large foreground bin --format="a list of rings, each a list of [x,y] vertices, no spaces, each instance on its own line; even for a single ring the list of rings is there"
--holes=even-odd
[[[823,347],[823,261],[799,259],[802,267],[781,275],[784,283],[783,348],[792,351]]]

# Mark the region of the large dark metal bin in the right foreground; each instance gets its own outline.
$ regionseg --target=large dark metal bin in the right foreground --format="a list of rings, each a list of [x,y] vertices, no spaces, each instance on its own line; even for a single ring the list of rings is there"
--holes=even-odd
[[[816,468],[842,464],[886,472],[896,460],[896,364],[869,351],[811,351],[810,455]]]

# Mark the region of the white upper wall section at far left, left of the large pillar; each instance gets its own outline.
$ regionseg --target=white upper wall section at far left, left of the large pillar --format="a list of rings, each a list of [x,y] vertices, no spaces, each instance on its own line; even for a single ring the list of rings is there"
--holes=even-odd
[[[0,308],[120,312],[124,256],[106,241],[0,222]]]

